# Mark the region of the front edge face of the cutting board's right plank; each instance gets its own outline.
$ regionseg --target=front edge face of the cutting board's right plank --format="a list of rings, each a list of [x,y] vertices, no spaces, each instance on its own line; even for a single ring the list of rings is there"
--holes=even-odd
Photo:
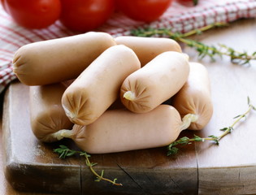
[[[199,195],[255,194],[256,166],[201,168],[199,174]]]

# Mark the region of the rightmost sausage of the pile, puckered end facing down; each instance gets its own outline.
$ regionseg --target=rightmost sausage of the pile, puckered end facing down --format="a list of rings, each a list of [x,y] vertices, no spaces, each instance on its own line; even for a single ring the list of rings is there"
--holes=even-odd
[[[171,98],[171,105],[176,107],[182,118],[187,115],[195,120],[189,129],[200,130],[209,123],[213,115],[213,104],[210,97],[210,78],[206,67],[201,63],[189,63],[189,78],[176,95]],[[189,116],[190,114],[190,116]],[[193,115],[191,115],[193,114]],[[188,117],[189,116],[189,117]]]

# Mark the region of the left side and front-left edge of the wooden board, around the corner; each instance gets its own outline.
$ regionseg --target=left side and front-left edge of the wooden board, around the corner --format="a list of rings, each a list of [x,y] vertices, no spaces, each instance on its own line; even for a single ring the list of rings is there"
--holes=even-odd
[[[40,164],[13,160],[15,157],[11,153],[11,140],[8,137],[11,137],[10,102],[15,95],[14,85],[10,85],[4,94],[2,111],[2,147],[3,151],[6,151],[3,153],[3,170],[7,182],[20,192],[80,194],[80,177],[77,178],[80,176],[80,166],[67,167],[57,164],[49,170],[48,167]],[[63,177],[59,177],[60,171],[63,172]],[[76,174],[72,174],[74,172]],[[47,180],[51,180],[51,184],[47,184]]]

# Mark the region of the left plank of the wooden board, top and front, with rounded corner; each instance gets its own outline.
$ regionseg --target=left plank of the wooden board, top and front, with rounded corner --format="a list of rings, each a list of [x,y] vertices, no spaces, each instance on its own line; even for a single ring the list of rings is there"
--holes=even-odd
[[[6,94],[2,137],[5,176],[14,189],[80,193],[80,159],[63,161],[53,153],[57,145],[37,141],[30,128],[28,86],[18,82]]]

